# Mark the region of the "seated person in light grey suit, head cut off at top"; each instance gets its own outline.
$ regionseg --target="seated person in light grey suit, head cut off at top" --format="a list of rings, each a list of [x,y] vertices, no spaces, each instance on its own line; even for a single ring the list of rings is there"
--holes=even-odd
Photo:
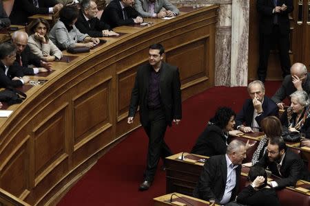
[[[152,18],[171,17],[180,13],[168,0],[136,0],[134,8],[136,8],[143,17]],[[165,8],[165,11],[161,11],[162,8]]]

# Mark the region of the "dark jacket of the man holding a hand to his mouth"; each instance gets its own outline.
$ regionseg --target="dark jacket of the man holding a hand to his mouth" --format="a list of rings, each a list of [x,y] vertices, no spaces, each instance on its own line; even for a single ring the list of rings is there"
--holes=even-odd
[[[279,108],[276,103],[274,103],[267,96],[264,97],[264,102],[262,102],[262,114],[258,115],[255,119],[260,126],[260,121],[268,116],[278,117]],[[242,106],[242,110],[236,115],[236,126],[240,126],[245,123],[246,126],[251,126],[254,113],[254,106],[251,99],[245,100],[245,104]]]

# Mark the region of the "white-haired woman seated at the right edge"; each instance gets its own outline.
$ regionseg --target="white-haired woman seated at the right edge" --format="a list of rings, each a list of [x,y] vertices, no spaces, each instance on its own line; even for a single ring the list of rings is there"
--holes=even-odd
[[[302,141],[302,146],[310,146],[310,100],[307,92],[295,91],[290,95],[291,106],[281,116],[283,126],[290,132],[304,133],[307,139]]]

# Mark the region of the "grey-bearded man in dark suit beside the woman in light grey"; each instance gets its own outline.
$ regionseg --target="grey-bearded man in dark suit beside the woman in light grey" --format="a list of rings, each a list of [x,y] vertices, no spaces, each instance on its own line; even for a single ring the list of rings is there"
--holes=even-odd
[[[116,32],[110,30],[110,25],[99,21],[97,18],[98,12],[97,5],[94,1],[83,0],[79,18],[75,23],[76,28],[81,33],[88,34],[91,37],[118,36]]]

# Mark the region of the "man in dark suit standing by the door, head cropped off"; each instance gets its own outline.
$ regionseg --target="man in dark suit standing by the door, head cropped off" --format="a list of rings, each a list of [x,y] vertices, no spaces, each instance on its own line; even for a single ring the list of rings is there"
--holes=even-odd
[[[289,74],[289,13],[293,11],[293,0],[258,0],[256,8],[260,14],[260,60],[258,80],[265,82],[268,58],[273,42],[278,43],[282,76]]]

